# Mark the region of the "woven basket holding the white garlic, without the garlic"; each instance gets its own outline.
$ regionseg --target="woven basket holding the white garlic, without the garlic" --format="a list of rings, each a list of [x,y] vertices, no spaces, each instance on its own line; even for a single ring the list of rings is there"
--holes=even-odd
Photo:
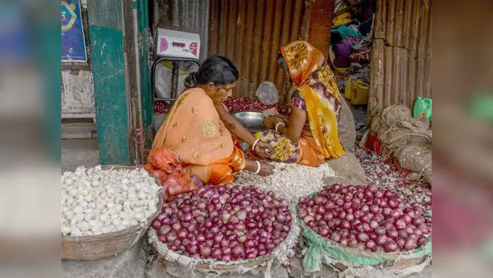
[[[105,165],[102,168],[135,169],[135,167],[123,165]],[[159,201],[156,204],[156,212],[147,219],[144,228],[140,225],[135,225],[121,231],[97,236],[62,236],[61,258],[67,260],[97,260],[111,257],[131,248],[142,238],[152,220],[157,217],[161,210],[164,202],[162,190],[159,190],[157,194]]]

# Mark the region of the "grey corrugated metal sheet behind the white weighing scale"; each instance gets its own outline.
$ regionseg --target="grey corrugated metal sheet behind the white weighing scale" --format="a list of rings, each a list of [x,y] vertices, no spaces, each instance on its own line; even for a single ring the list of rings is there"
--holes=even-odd
[[[154,1],[154,28],[193,32],[200,35],[200,60],[207,58],[209,1],[160,0]],[[154,30],[154,34],[155,34]]]

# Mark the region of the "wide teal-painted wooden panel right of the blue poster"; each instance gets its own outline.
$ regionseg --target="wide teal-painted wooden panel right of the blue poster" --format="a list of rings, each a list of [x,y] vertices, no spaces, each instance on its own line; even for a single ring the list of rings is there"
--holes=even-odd
[[[87,1],[101,164],[129,164],[121,1]]]

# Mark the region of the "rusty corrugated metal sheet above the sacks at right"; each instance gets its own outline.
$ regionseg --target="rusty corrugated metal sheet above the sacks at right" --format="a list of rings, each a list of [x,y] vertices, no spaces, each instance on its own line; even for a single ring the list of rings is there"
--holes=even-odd
[[[416,97],[431,97],[430,8],[430,0],[378,0],[369,116],[391,104],[412,109]]]

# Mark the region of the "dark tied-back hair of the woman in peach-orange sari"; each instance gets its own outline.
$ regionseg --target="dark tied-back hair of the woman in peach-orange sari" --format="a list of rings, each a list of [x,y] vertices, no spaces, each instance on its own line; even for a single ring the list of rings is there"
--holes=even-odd
[[[196,73],[185,78],[185,87],[197,87],[207,83],[226,85],[238,80],[238,69],[224,56],[210,56]]]

